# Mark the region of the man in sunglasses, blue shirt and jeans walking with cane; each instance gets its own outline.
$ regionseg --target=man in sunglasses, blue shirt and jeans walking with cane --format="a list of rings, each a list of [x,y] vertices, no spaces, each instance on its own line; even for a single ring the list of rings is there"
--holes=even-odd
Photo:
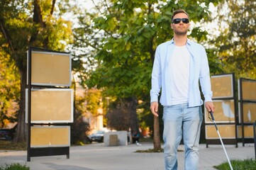
[[[187,38],[189,14],[178,9],[172,16],[174,38],[157,47],[152,68],[150,110],[158,116],[158,96],[163,108],[165,169],[177,169],[177,148],[185,147],[185,170],[198,169],[202,122],[201,91],[207,111],[214,112],[206,50]]]

